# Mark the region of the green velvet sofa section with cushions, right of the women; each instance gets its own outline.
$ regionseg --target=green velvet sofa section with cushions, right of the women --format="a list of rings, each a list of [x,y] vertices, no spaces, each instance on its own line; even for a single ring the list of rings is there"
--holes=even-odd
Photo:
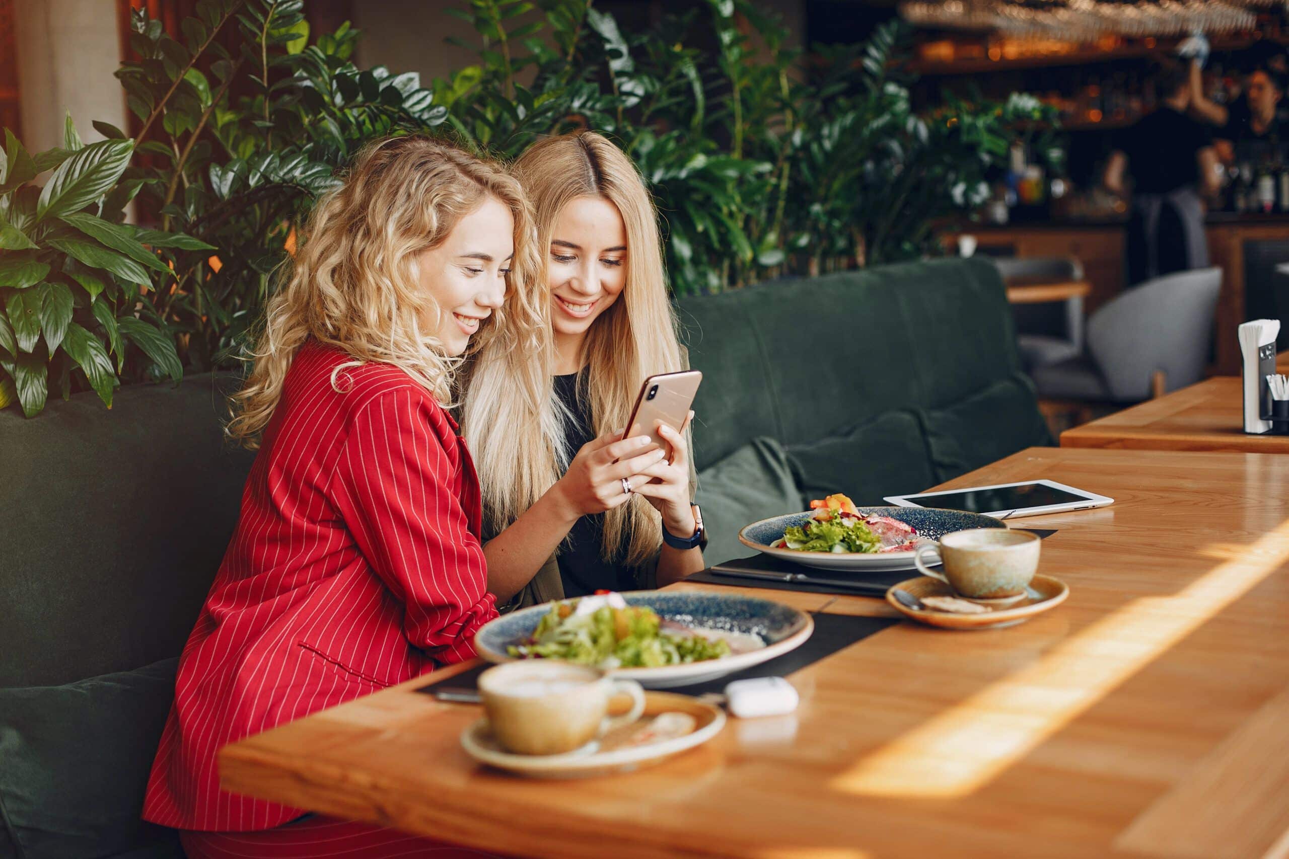
[[[1020,368],[998,269],[937,260],[679,301],[695,401],[705,558],[742,525],[844,492],[920,492],[1052,444]]]

